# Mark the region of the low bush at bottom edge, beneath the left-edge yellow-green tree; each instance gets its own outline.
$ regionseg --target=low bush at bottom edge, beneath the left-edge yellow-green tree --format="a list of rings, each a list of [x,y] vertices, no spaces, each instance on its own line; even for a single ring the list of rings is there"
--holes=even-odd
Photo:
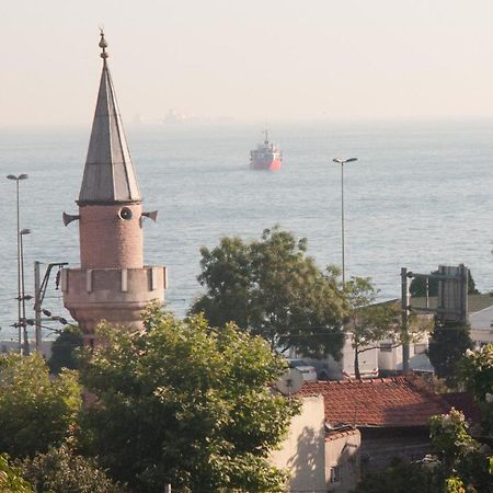
[[[45,454],[21,462],[22,475],[38,493],[123,493],[94,459],[78,456],[68,445],[50,447]]]

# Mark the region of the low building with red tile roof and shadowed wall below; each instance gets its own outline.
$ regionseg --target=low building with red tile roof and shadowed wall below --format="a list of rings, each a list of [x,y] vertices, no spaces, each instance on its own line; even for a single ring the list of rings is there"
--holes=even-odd
[[[329,429],[354,428],[360,433],[360,438],[352,434],[341,436],[345,443],[326,442],[329,491],[349,491],[348,484],[349,490],[345,485],[343,489],[342,478],[357,478],[359,460],[365,473],[383,469],[393,457],[423,458],[429,452],[431,416],[455,408],[472,417],[472,395],[460,393],[449,399],[447,394],[436,394],[416,376],[305,382],[298,394],[323,395]],[[349,454],[349,449],[354,451]],[[339,490],[334,485],[337,482]]]

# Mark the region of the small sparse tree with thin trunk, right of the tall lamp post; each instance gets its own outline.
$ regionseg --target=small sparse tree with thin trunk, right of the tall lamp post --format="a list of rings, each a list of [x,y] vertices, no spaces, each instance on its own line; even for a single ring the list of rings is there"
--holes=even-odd
[[[377,303],[378,290],[369,277],[352,277],[345,286],[347,319],[344,323],[354,349],[354,371],[360,378],[359,355],[379,347],[386,341],[398,346],[416,340],[427,330],[427,323],[410,318],[408,332],[402,332],[401,311],[394,302]]]

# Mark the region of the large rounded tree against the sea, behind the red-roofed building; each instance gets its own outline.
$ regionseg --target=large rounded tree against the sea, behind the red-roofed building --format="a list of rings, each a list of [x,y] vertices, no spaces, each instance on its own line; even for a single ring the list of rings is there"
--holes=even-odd
[[[191,313],[204,312],[214,326],[234,321],[273,349],[339,358],[344,296],[337,272],[323,273],[306,251],[306,239],[278,227],[260,241],[226,237],[213,250],[203,246],[198,280],[206,293]]]

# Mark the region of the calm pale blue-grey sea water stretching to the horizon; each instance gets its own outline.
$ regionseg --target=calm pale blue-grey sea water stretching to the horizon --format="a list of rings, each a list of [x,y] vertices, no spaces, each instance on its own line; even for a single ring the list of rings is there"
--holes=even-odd
[[[274,223],[309,240],[318,264],[341,260],[345,168],[346,275],[371,276],[382,298],[400,296],[400,268],[465,263],[481,290],[493,286],[493,122],[345,123],[271,128],[283,148],[277,173],[248,168],[260,126],[128,126],[147,210],[146,262],[169,268],[169,306],[183,316],[200,291],[200,245],[223,234],[257,238]],[[0,130],[0,339],[16,318],[15,184],[21,183],[27,293],[33,262],[78,263],[77,214],[89,141],[82,129]],[[46,307],[66,314],[50,283]],[[31,305],[30,305],[31,309]]]

